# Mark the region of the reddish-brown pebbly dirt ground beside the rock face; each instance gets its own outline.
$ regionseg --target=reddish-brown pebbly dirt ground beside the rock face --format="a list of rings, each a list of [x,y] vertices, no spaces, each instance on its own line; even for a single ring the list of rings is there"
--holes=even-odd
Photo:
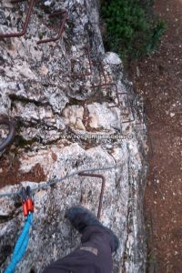
[[[145,196],[149,273],[182,272],[182,0],[157,0],[167,21],[157,53],[135,61],[130,79],[144,97],[149,160]]]

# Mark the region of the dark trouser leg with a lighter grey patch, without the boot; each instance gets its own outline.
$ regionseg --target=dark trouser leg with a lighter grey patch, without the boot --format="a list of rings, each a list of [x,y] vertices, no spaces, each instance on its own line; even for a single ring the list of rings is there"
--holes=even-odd
[[[43,273],[111,273],[114,240],[103,228],[86,227],[81,246],[45,268]]]

